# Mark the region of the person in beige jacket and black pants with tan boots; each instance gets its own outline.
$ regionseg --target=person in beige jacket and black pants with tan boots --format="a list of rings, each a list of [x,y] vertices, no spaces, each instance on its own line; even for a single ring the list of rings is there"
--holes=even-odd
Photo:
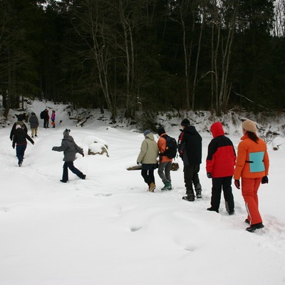
[[[142,164],[141,175],[148,185],[148,190],[154,192],[155,190],[155,175],[154,170],[157,168],[158,147],[155,137],[150,130],[145,130],[143,133],[145,140],[140,146],[140,154],[137,158],[137,164]]]

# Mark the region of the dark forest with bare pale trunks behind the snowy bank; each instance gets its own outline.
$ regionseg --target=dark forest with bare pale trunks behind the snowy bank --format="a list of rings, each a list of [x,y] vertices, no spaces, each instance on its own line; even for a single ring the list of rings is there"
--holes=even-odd
[[[24,98],[138,112],[285,109],[285,3],[0,0],[4,116]]]

